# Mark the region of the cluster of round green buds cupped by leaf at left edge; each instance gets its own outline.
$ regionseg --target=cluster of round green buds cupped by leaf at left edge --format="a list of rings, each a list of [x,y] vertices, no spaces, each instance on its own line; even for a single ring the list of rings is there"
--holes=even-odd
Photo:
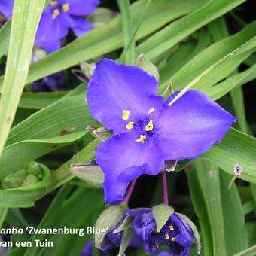
[[[32,161],[22,169],[11,172],[8,176],[2,179],[2,189],[26,187],[38,183],[42,178],[41,168],[41,163]]]

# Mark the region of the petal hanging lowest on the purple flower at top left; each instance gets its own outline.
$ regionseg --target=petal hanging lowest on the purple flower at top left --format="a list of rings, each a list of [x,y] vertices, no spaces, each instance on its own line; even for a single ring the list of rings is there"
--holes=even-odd
[[[44,11],[41,17],[38,31],[35,37],[35,44],[38,47],[53,53],[60,48],[60,40],[68,34],[68,27],[62,26],[61,16],[52,18],[50,11]]]

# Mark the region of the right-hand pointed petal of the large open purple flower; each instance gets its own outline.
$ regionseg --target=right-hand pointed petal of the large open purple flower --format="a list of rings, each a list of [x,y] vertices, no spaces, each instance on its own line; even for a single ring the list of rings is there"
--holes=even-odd
[[[157,120],[156,143],[162,149],[166,160],[198,157],[215,142],[220,142],[235,121],[236,117],[209,99],[206,94],[190,90],[174,104],[165,105],[163,108]]]

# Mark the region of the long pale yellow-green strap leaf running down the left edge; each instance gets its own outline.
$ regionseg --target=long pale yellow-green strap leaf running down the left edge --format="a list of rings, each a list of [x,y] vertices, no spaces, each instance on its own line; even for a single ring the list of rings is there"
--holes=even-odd
[[[45,0],[16,0],[0,102],[0,155],[8,137],[31,62],[35,32]]]

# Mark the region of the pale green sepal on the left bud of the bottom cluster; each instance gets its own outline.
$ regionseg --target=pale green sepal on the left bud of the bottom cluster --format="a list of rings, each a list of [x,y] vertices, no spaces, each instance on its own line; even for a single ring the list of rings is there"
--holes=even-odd
[[[118,205],[118,206],[108,206],[99,218],[96,221],[95,228],[96,230],[111,230],[114,225],[116,225],[122,218],[123,213],[126,210],[126,205]],[[100,248],[100,245],[105,238],[106,234],[99,233],[95,235],[95,247]]]

